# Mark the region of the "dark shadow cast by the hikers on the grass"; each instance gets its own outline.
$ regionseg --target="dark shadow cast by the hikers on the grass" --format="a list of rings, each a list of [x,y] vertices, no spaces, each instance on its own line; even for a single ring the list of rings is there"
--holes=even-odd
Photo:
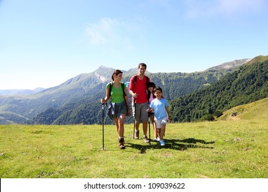
[[[213,144],[214,141],[204,141],[201,139],[194,139],[194,138],[189,138],[189,139],[164,139],[166,145],[161,146],[159,145],[159,142],[151,141],[151,145],[149,143],[144,143],[143,145],[137,144],[137,143],[131,143],[127,142],[126,147],[132,147],[133,149],[138,149],[140,150],[141,154],[146,154],[146,149],[174,149],[178,151],[184,151],[188,148],[203,148],[203,149],[213,149],[214,147],[212,146],[204,146],[204,145],[209,145]],[[201,143],[204,145],[198,145],[197,143]]]

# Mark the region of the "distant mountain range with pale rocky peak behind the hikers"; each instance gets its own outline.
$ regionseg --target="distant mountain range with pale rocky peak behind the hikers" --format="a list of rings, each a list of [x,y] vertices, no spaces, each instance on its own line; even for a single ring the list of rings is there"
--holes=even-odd
[[[164,97],[172,100],[219,82],[228,73],[238,70],[244,64],[254,60],[266,60],[267,56],[254,59],[234,60],[205,71],[194,73],[150,73],[152,82],[163,87]],[[91,73],[82,73],[63,84],[38,90],[37,93],[3,95],[0,91],[0,124],[38,123],[38,124],[74,124],[100,123],[100,98],[104,96],[105,86],[111,81],[115,69],[101,66]],[[130,80],[137,69],[123,71],[123,82]],[[5,94],[7,92],[5,91]],[[130,98],[129,98],[130,99]],[[131,121],[132,117],[129,117]],[[106,123],[111,123],[105,118]]]

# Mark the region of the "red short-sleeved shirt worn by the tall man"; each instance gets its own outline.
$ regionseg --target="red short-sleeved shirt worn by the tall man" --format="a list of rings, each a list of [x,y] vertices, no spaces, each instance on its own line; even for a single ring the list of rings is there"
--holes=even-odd
[[[147,82],[146,77],[144,75],[144,78],[142,80],[139,80],[139,75],[137,75],[136,84],[134,83],[134,77],[131,77],[131,82],[129,84],[129,90],[133,91],[133,93],[137,93],[137,104],[143,104],[145,102],[148,102],[147,99]],[[150,78],[148,77],[148,82],[150,82]],[[134,102],[134,97],[132,97],[132,102]]]

